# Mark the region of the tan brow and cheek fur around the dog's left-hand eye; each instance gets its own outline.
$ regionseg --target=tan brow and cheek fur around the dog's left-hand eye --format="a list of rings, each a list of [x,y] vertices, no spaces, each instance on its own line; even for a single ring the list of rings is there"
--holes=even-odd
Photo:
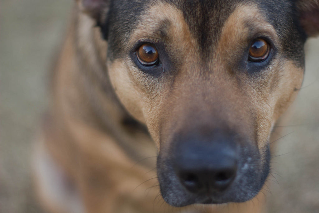
[[[151,14],[154,13],[159,15],[152,16]],[[155,41],[159,40],[161,35],[158,32],[158,26],[164,20],[168,20],[170,24],[168,37],[172,39],[169,42],[172,45],[174,44],[171,50],[175,50],[178,53],[182,52],[183,55],[181,55],[180,58],[185,58],[186,62],[194,60],[192,57],[198,55],[195,48],[195,41],[191,37],[188,26],[180,11],[169,4],[159,3],[145,11],[145,14],[150,15],[145,16],[148,17],[147,19],[140,20],[137,29],[131,36],[129,44],[134,44],[143,38],[151,38]],[[190,52],[193,53],[191,54],[192,57],[189,56]],[[138,70],[132,70],[132,65],[129,64],[129,62],[129,58],[125,58],[124,60],[115,61],[113,64],[108,63],[110,64],[108,70],[110,72],[112,85],[120,100],[125,106],[128,106],[127,110],[140,122],[147,124],[152,138],[159,148],[159,123],[157,122],[158,117],[154,112],[161,111],[159,109],[161,99],[158,99],[158,97],[165,96],[166,91],[168,91],[167,84],[162,85],[160,82],[157,82],[156,90],[152,90],[148,85],[145,86],[143,77],[140,76]],[[132,74],[129,75],[128,73],[130,72],[126,72],[126,70],[130,70]],[[132,90],[132,88],[134,88],[134,90]],[[129,106],[132,106],[132,108],[130,109]]]

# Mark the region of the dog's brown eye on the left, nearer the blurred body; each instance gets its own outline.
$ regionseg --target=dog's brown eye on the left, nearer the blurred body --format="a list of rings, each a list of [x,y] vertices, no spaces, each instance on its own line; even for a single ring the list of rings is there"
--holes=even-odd
[[[152,44],[143,44],[137,49],[138,61],[146,66],[156,65],[159,59],[159,54]]]

